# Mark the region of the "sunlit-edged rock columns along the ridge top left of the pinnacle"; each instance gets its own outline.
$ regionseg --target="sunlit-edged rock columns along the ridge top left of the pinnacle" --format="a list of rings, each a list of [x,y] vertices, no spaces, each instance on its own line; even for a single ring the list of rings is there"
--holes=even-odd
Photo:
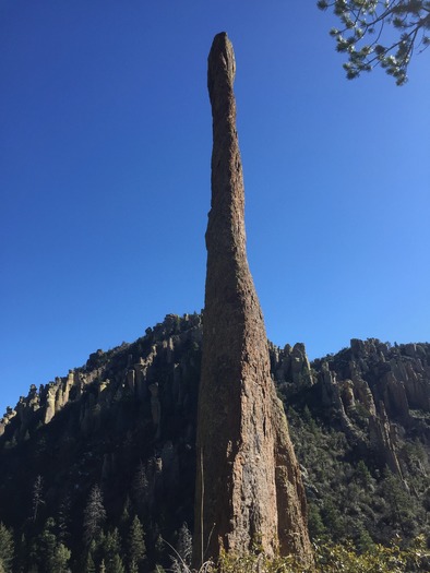
[[[182,411],[189,411],[190,389],[184,380],[200,363],[192,363],[184,349],[195,345],[200,350],[201,339],[199,314],[184,314],[183,318],[168,314],[154,329],[147,329],[146,336],[141,339],[144,348],[140,349],[138,343],[123,343],[108,353],[99,349],[89,355],[84,367],[70,370],[67,377],[58,377],[39,389],[32,384],[28,395],[20,397],[15,408],[8,408],[0,419],[0,438],[9,444],[28,439],[40,426],[51,423],[65,406],[76,403],[81,403],[79,428],[87,435],[98,427],[100,409],[105,411],[112,402],[135,398],[148,405],[154,439],[158,440],[164,384],[158,383],[159,374],[154,372],[158,371],[159,362],[166,363],[166,375],[174,382],[174,396],[169,399],[176,401]],[[178,358],[182,354],[183,358]]]

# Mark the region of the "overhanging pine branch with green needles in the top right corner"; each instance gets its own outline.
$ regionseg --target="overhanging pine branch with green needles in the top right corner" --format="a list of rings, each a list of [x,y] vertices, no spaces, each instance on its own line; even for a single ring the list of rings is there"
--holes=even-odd
[[[337,51],[348,57],[344,63],[348,80],[381,65],[403,85],[413,55],[430,44],[427,0],[319,0],[316,5],[332,9],[341,21],[330,34]]]

